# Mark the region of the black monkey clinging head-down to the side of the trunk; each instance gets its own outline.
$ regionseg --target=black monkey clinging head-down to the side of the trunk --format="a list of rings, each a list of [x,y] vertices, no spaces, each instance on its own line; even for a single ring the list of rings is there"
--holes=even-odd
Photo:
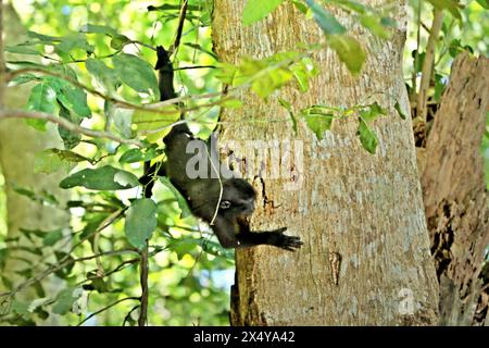
[[[161,100],[176,96],[173,87],[173,67],[168,54],[163,47],[158,47],[158,62],[155,69],[160,75]],[[253,187],[241,178],[218,178],[216,169],[220,163],[213,163],[216,149],[209,142],[193,137],[187,124],[174,126],[163,139],[165,144],[166,161],[161,164],[158,175],[166,175],[172,184],[187,199],[192,213],[210,224],[221,245],[224,248],[251,247],[256,245],[271,245],[286,250],[294,251],[302,246],[299,237],[287,236],[287,227],[267,231],[251,232],[248,217],[253,213],[255,191]],[[205,177],[191,178],[187,173],[187,163],[195,153],[187,153],[190,141],[208,161]],[[211,142],[212,144],[212,142]],[[202,153],[203,152],[203,153]],[[211,162],[212,161],[212,162]],[[149,167],[141,183],[146,185],[145,196],[151,197],[152,181],[148,177],[154,175],[155,165]],[[213,175],[214,174],[214,175]],[[151,187],[148,187],[151,184]],[[216,212],[217,210],[217,212]]]

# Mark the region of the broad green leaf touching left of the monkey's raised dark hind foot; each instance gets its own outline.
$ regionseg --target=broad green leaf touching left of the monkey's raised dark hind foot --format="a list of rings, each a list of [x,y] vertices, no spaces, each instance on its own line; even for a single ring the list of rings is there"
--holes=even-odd
[[[147,61],[133,54],[121,53],[112,58],[112,62],[124,84],[139,92],[152,94],[155,100],[160,99],[156,76]]]

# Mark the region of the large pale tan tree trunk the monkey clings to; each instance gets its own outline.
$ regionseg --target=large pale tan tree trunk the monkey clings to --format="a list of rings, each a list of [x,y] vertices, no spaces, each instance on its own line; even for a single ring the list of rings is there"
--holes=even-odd
[[[225,62],[264,58],[324,40],[317,25],[289,3],[266,20],[242,27],[243,3],[215,1],[214,48]],[[401,69],[404,1],[396,11],[400,27],[388,41],[373,38],[344,13],[335,12],[367,52],[361,76],[352,77],[333,51],[324,50],[314,57],[321,74],[310,91],[288,87],[280,97],[299,110],[315,103],[351,107],[380,91],[399,100],[409,114]],[[221,139],[291,139],[303,145],[303,169],[297,167],[296,173],[296,184],[302,181],[300,189],[285,190],[285,179],[254,179],[260,200],[252,227],[287,225],[288,233],[300,235],[304,246],[296,253],[266,246],[237,252],[231,324],[437,324],[438,284],[412,124],[397,115],[396,100],[379,94],[368,99],[388,110],[387,116],[374,122],[379,147],[372,156],[359,141],[355,117],[335,122],[333,132],[319,141],[302,121],[298,136],[293,135],[276,96],[263,101],[247,91],[240,97],[246,108],[222,115],[230,123]],[[283,122],[248,122],[264,117]],[[269,166],[269,162],[264,165]]]

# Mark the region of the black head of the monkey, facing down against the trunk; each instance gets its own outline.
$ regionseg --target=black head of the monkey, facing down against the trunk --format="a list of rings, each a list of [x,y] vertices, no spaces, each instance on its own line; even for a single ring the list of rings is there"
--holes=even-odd
[[[242,178],[223,181],[223,197],[220,204],[220,214],[225,217],[246,217],[254,210],[253,186]]]

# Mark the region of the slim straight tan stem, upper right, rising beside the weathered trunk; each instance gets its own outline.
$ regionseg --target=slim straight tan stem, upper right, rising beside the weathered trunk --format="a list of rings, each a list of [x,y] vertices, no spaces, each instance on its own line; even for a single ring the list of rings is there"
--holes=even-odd
[[[428,42],[426,45],[426,55],[423,62],[422,79],[419,83],[419,94],[417,95],[416,102],[416,116],[426,122],[426,115],[428,114],[427,101],[428,101],[428,89],[429,83],[431,80],[434,61],[435,61],[435,49],[438,40],[438,34],[440,33],[441,25],[443,23],[443,11],[434,10],[434,18],[431,24],[431,29],[428,37]]]

